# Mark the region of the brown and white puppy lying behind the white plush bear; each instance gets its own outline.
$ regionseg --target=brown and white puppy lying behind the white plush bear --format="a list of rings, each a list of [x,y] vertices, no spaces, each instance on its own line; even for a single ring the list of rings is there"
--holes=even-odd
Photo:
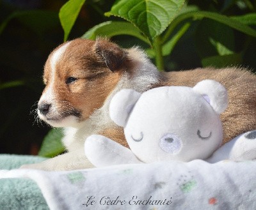
[[[74,170],[93,167],[84,156],[84,140],[101,134],[127,146],[124,132],[109,118],[109,102],[120,89],[143,92],[158,86],[195,86],[204,79],[221,82],[228,91],[228,109],[221,115],[224,142],[256,129],[256,77],[237,68],[160,73],[137,47],[121,49],[108,40],[76,39],[49,55],[44,69],[45,89],[38,116],[65,128],[68,153],[22,168]],[[118,157],[116,157],[118,158]]]

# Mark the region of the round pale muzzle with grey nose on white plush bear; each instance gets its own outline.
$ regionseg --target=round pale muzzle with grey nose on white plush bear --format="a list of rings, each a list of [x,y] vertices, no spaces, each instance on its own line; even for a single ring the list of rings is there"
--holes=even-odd
[[[165,134],[159,142],[159,146],[166,153],[178,153],[182,146],[181,140],[173,133]]]

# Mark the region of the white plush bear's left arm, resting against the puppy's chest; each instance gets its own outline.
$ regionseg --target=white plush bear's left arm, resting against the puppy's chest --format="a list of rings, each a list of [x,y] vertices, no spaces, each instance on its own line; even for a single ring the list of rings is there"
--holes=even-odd
[[[132,151],[102,135],[90,135],[84,143],[88,160],[96,167],[127,163],[142,163]]]

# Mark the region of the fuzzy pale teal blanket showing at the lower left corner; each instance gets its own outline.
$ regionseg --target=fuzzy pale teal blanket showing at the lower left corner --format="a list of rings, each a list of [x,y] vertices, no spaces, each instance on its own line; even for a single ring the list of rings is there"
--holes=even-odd
[[[18,169],[23,164],[46,160],[40,156],[0,154],[0,170]],[[48,210],[49,207],[35,181],[26,178],[0,179],[0,209]]]

